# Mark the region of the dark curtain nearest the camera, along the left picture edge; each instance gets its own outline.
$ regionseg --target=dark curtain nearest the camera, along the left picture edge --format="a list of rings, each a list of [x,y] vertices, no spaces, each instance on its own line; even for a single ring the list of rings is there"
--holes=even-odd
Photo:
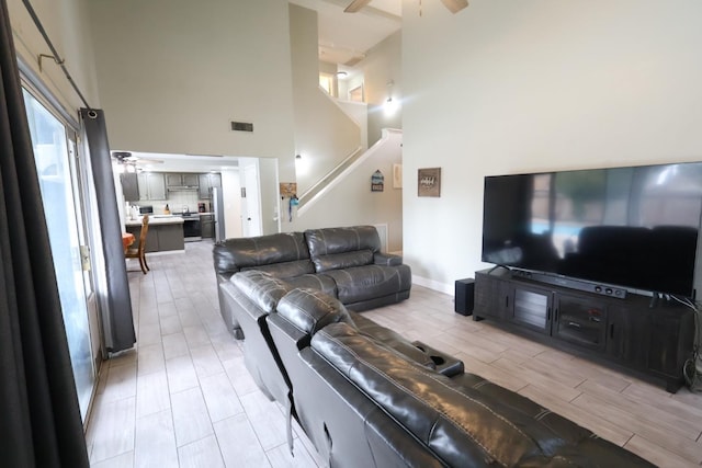
[[[5,0],[0,85],[0,466],[88,467]]]

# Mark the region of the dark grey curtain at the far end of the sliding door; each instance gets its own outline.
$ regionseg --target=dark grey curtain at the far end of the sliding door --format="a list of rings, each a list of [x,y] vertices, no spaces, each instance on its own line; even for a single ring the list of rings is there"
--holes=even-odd
[[[128,350],[136,342],[129,281],[122,244],[122,221],[117,210],[104,113],[95,109],[81,109],[80,117],[95,183],[107,281],[107,310],[102,313],[103,339],[107,351],[116,353]]]

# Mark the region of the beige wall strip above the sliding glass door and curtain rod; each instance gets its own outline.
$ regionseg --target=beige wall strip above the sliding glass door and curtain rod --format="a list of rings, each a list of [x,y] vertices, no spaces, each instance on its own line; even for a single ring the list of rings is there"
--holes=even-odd
[[[87,1],[43,0],[33,1],[32,5],[86,101],[91,107],[100,107]],[[44,58],[39,70],[39,54],[50,54],[50,49],[22,0],[8,0],[8,10],[18,55],[30,65],[61,106],[78,119],[78,110],[84,104],[61,68],[50,58]]]

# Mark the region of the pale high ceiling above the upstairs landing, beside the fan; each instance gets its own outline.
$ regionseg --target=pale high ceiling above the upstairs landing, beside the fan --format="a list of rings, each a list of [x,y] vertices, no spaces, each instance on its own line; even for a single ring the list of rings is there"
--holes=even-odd
[[[401,26],[401,0],[372,0],[356,13],[344,13],[351,0],[290,0],[317,11],[319,59],[353,66]]]

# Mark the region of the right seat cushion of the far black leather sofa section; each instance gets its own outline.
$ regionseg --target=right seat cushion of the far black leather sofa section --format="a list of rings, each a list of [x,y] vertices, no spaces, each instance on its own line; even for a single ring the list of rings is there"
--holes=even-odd
[[[411,287],[411,271],[407,265],[366,265],[324,273],[337,284],[337,297],[343,304],[353,304],[393,295]]]

